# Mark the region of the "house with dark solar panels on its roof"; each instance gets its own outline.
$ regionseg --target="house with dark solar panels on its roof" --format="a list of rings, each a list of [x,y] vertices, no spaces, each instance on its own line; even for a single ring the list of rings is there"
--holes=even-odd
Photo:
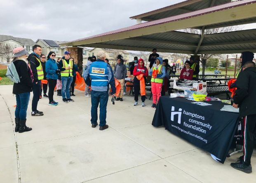
[[[42,54],[44,54],[45,56],[47,56],[50,51],[53,51],[56,54],[56,58],[63,57],[64,52],[67,48],[67,46],[59,46],[59,44],[63,43],[64,41],[38,39],[35,42],[36,44],[42,46]]]

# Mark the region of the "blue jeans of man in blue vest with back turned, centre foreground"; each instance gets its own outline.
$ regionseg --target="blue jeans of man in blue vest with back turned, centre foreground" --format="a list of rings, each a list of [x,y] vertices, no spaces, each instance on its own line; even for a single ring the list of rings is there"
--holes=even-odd
[[[107,105],[108,105],[108,91],[91,91],[91,123],[96,124],[98,120],[98,106],[100,104],[100,124],[99,126],[106,125]]]

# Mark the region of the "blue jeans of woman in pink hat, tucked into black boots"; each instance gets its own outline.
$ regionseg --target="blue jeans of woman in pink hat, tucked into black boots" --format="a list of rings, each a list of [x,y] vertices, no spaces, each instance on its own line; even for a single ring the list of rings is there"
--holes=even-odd
[[[26,117],[27,117],[29,97],[30,97],[30,92],[16,94],[16,109],[15,109],[16,118],[19,118],[20,120],[27,119]]]

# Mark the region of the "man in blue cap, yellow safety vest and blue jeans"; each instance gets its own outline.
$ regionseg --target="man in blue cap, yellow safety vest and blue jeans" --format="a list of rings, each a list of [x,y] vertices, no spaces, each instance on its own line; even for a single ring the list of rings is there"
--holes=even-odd
[[[70,98],[70,86],[73,81],[72,73],[75,72],[73,65],[74,62],[70,59],[70,52],[65,51],[64,57],[60,59],[58,65],[59,70],[61,70],[61,95],[64,103],[74,102],[74,100]]]

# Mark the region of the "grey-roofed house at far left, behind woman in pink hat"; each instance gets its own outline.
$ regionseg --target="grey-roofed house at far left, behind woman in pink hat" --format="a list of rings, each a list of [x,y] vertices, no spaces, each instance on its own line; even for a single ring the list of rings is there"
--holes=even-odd
[[[35,42],[32,39],[0,35],[0,45],[0,62],[9,62],[14,48],[23,47],[28,50],[29,53],[32,53],[32,47],[35,45]],[[8,48],[5,49],[2,47]]]

